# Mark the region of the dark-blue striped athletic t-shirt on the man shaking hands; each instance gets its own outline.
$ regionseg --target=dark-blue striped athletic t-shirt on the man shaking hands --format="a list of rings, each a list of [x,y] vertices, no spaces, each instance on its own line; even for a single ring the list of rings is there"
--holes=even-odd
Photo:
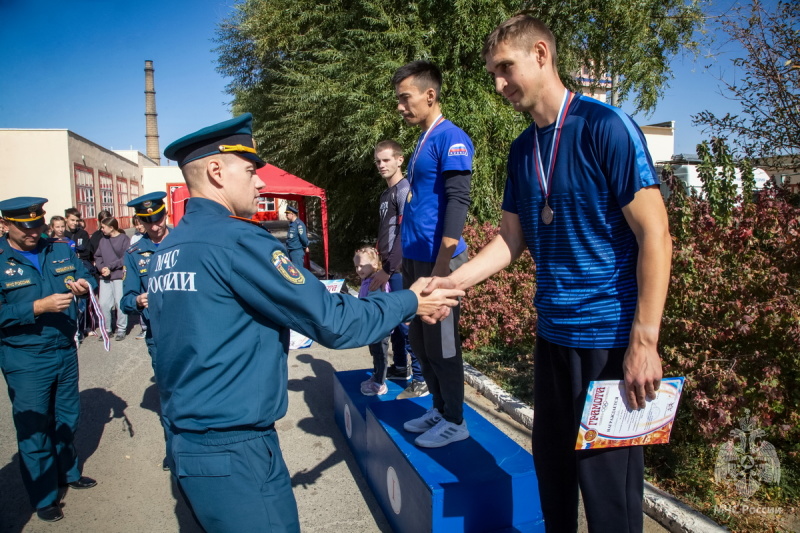
[[[644,135],[621,110],[575,95],[550,184],[553,222],[536,177],[534,127],[511,145],[503,210],[517,214],[536,262],[537,333],[573,348],[628,345],[639,248],[622,207],[659,183]],[[544,168],[555,124],[539,130]]]

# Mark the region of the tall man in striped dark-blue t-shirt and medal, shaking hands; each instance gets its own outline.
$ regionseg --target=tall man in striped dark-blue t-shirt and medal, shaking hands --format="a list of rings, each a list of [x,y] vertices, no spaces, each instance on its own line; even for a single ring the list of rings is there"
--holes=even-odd
[[[580,486],[590,530],[641,531],[641,447],[574,448],[589,381],[624,379],[633,409],[660,384],[671,240],[655,170],[628,116],[566,90],[543,23],[507,20],[483,54],[497,91],[535,124],[511,147],[499,235],[430,287],[470,287],[530,250],[533,456],[546,529],[577,530]]]

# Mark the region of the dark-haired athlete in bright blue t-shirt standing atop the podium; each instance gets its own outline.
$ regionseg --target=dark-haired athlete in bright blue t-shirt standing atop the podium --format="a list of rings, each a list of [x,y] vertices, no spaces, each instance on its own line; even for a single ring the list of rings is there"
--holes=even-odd
[[[472,141],[446,120],[439,106],[442,74],[436,65],[414,61],[395,72],[397,110],[422,134],[408,162],[411,190],[403,213],[403,284],[427,276],[447,276],[467,260],[461,238],[472,179]],[[406,431],[421,433],[414,443],[438,448],[469,437],[464,422],[464,363],[458,334],[459,308],[441,322],[414,318],[409,340],[422,364],[433,408],[409,420]],[[402,395],[401,395],[402,396]]]

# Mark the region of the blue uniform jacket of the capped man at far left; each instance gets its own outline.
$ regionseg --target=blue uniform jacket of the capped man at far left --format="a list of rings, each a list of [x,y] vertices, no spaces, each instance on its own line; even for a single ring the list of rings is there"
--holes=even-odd
[[[33,315],[33,302],[68,292],[65,282],[85,279],[97,287],[69,241],[45,239],[37,247],[41,273],[0,238],[0,344],[28,350],[65,348],[75,343],[78,306],[60,313]]]

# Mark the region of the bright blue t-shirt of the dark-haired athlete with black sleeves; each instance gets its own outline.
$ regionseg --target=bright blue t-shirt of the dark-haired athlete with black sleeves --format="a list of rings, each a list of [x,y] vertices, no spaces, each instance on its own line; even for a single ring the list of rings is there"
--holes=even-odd
[[[442,174],[448,170],[472,172],[475,149],[469,135],[449,120],[443,120],[430,132],[418,154],[424,135],[425,132],[420,135],[408,163],[411,191],[406,199],[400,237],[403,258],[435,263],[447,208]],[[453,257],[466,249],[464,239],[459,238]]]

